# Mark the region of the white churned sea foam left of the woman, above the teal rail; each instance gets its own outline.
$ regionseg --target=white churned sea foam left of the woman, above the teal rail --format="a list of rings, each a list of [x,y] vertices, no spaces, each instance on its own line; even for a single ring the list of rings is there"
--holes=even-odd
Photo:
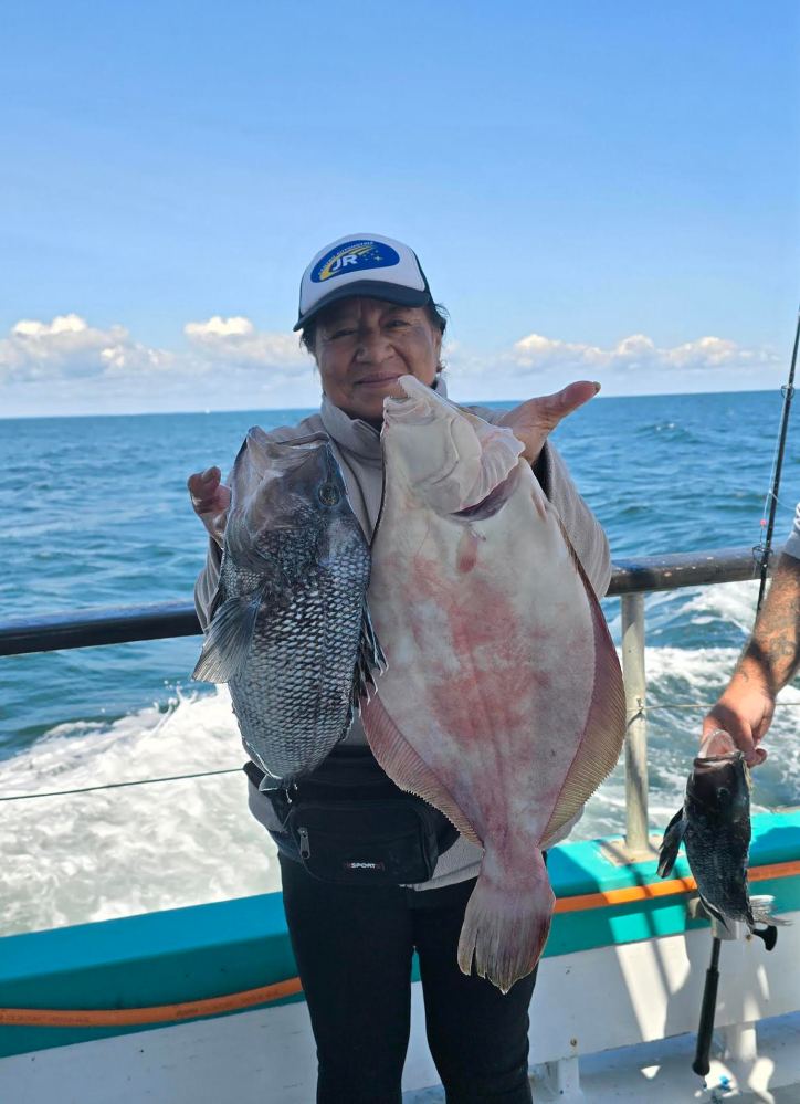
[[[0,795],[239,768],[230,697],[179,695],[110,725],[53,728],[0,763]],[[232,775],[0,802],[0,935],[280,887],[275,848]]]

